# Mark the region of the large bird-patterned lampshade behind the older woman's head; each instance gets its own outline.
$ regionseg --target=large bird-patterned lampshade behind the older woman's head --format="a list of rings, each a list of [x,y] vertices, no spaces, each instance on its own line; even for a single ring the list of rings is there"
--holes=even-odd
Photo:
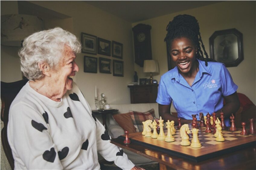
[[[1,45],[20,47],[24,38],[44,30],[44,22],[33,15],[1,15]]]

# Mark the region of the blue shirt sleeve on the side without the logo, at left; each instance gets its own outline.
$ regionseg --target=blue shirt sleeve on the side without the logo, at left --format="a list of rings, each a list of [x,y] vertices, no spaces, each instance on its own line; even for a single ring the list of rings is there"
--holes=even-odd
[[[172,102],[172,98],[168,94],[167,87],[165,86],[163,76],[161,77],[160,82],[159,82],[156,102],[161,105],[170,105]]]

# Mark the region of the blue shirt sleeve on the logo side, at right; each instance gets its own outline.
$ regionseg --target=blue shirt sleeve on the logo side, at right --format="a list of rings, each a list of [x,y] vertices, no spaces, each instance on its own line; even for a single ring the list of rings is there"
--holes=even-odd
[[[224,64],[222,64],[222,67],[220,70],[220,77],[222,82],[222,89],[221,89],[222,95],[229,96],[235,93],[236,90],[238,89],[238,86],[233,82],[233,79]]]

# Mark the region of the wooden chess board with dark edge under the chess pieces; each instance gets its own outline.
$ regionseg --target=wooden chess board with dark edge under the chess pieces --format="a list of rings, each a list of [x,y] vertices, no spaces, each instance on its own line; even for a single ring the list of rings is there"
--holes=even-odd
[[[176,126],[175,126],[175,129]],[[141,132],[129,134],[129,138],[132,143],[146,146],[150,149],[157,150],[169,155],[177,156],[184,158],[192,162],[201,162],[216,156],[223,154],[231,153],[236,150],[243,149],[248,146],[256,145],[256,135],[242,136],[240,135],[241,130],[231,132],[231,131],[222,131],[225,141],[218,142],[215,140],[214,135],[205,133],[206,128],[199,128],[198,139],[202,145],[200,148],[192,148],[191,146],[182,146],[180,130],[176,131],[175,135],[172,135],[175,138],[174,142],[165,142],[164,140],[157,140],[151,137],[145,137]],[[192,127],[190,126],[190,131]],[[167,130],[164,130],[165,135]],[[120,136],[122,140],[125,139],[125,135]],[[192,140],[192,133],[190,134],[190,142]]]

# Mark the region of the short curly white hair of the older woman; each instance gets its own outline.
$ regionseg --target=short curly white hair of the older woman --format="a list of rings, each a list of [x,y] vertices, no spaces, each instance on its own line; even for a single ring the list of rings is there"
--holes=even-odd
[[[25,38],[23,47],[18,52],[24,76],[29,80],[43,78],[38,63],[46,62],[50,68],[55,68],[59,64],[65,45],[75,53],[81,52],[81,43],[77,37],[59,27],[33,33]]]

